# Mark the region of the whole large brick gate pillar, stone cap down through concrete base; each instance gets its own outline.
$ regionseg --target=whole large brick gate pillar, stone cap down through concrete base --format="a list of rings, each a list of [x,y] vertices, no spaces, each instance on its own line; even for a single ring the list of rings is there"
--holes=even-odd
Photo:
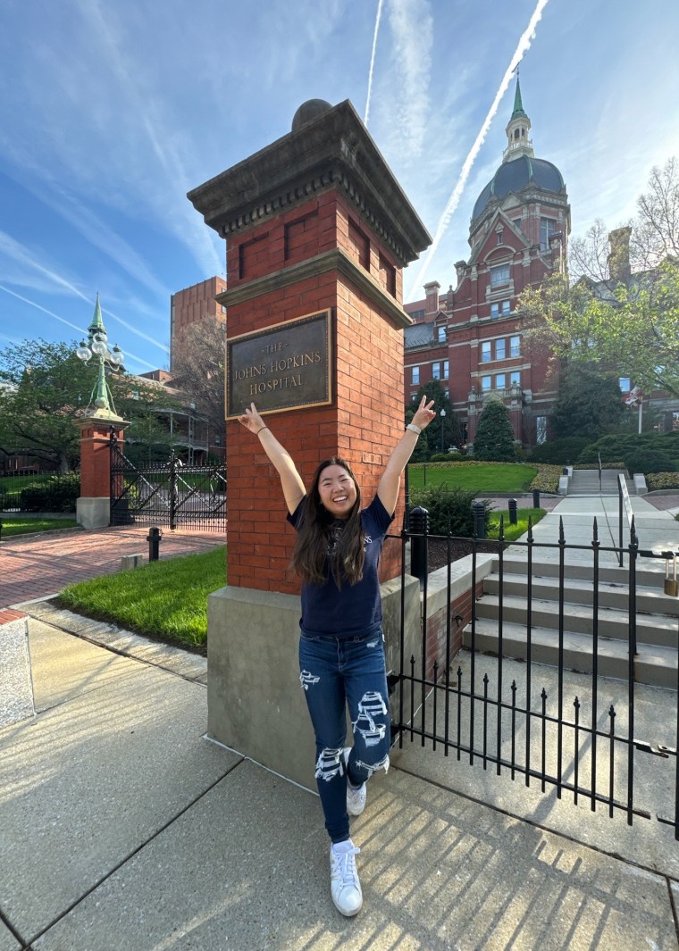
[[[254,367],[227,365],[228,587],[210,598],[208,728],[308,784],[308,751],[302,761],[297,742],[307,718],[295,689],[294,534],[278,476],[236,417],[254,399],[275,414],[267,421],[307,484],[321,459],[344,456],[372,498],[404,425],[402,331],[411,321],[402,268],[431,238],[349,101],[305,103],[288,135],[188,198],[227,242],[227,290],[218,297],[227,307],[227,349],[263,334]],[[304,374],[295,373],[286,326],[323,312],[329,398],[314,402]],[[271,359],[271,347],[292,360],[291,372]],[[247,382],[248,374],[254,390],[239,390],[234,378]],[[266,403],[276,389],[282,396]],[[401,494],[397,531],[402,512]],[[383,583],[398,575],[399,556],[399,544],[387,542]]]

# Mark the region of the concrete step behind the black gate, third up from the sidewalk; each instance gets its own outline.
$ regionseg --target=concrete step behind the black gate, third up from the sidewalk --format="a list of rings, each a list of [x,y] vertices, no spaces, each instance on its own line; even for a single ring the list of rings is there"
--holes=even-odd
[[[503,575],[503,591],[505,596],[526,596],[526,577],[521,574],[511,574],[505,571]],[[498,594],[500,580],[498,574],[487,577],[483,583],[483,590],[487,594]],[[552,578],[533,576],[533,600],[551,601],[554,596]],[[630,589],[627,581],[621,583],[599,582],[598,603],[599,609],[613,608],[627,610]],[[592,582],[580,578],[564,579],[564,599],[569,604],[589,605],[594,601],[594,586]],[[662,590],[637,585],[636,611],[644,614],[661,614],[670,617],[679,617],[679,598],[669,597]]]

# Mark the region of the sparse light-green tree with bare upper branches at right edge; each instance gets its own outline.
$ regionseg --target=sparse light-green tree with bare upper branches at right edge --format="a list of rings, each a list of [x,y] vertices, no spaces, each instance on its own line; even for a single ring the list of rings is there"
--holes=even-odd
[[[596,363],[629,377],[645,393],[679,397],[679,165],[653,168],[632,219],[634,273],[613,281],[606,225],[597,221],[574,239],[574,283],[560,275],[519,297],[517,310],[533,346],[557,359]],[[620,263],[619,261],[617,262]]]

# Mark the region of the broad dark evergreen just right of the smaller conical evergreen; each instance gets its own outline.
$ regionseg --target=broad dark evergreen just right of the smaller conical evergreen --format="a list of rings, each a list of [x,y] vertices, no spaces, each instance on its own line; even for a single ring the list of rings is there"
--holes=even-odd
[[[592,363],[572,362],[559,378],[553,434],[557,439],[596,439],[620,429],[625,412],[617,376],[602,373]]]

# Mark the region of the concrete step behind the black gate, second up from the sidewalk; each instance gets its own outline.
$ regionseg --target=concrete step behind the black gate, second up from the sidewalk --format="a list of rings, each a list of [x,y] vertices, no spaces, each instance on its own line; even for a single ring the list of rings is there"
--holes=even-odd
[[[555,594],[556,592],[554,592]],[[533,598],[532,601],[533,627],[546,628],[550,631],[558,630],[559,611],[558,602],[554,600]],[[517,624],[526,627],[528,605],[525,594],[521,596],[506,595],[502,599],[502,620],[505,624]],[[497,623],[500,616],[499,598],[497,594],[484,594],[476,602],[476,617],[494,620]],[[564,627],[577,634],[592,634],[592,608],[583,604],[568,602],[564,606]],[[630,636],[630,618],[625,608],[620,610],[600,608],[598,612],[598,631],[600,637],[628,642]],[[677,619],[660,614],[637,614],[636,617],[637,644],[654,644],[661,647],[672,647],[677,650]]]

